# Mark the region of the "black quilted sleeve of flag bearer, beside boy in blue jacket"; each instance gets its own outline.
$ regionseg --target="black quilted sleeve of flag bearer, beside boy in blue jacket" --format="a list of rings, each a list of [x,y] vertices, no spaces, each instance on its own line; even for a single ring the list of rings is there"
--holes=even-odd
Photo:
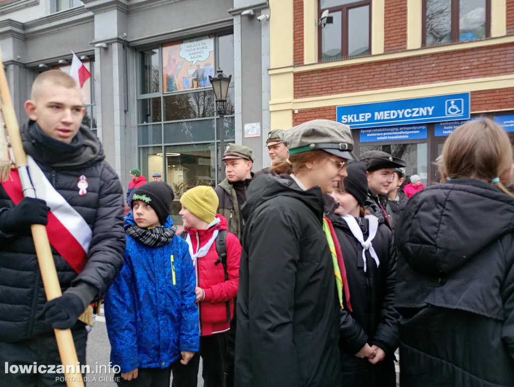
[[[101,297],[118,275],[123,266],[125,250],[123,190],[118,176],[106,162],[102,162],[101,168],[98,209],[89,244],[88,261],[71,283],[72,287],[81,282],[94,287],[95,299]]]

